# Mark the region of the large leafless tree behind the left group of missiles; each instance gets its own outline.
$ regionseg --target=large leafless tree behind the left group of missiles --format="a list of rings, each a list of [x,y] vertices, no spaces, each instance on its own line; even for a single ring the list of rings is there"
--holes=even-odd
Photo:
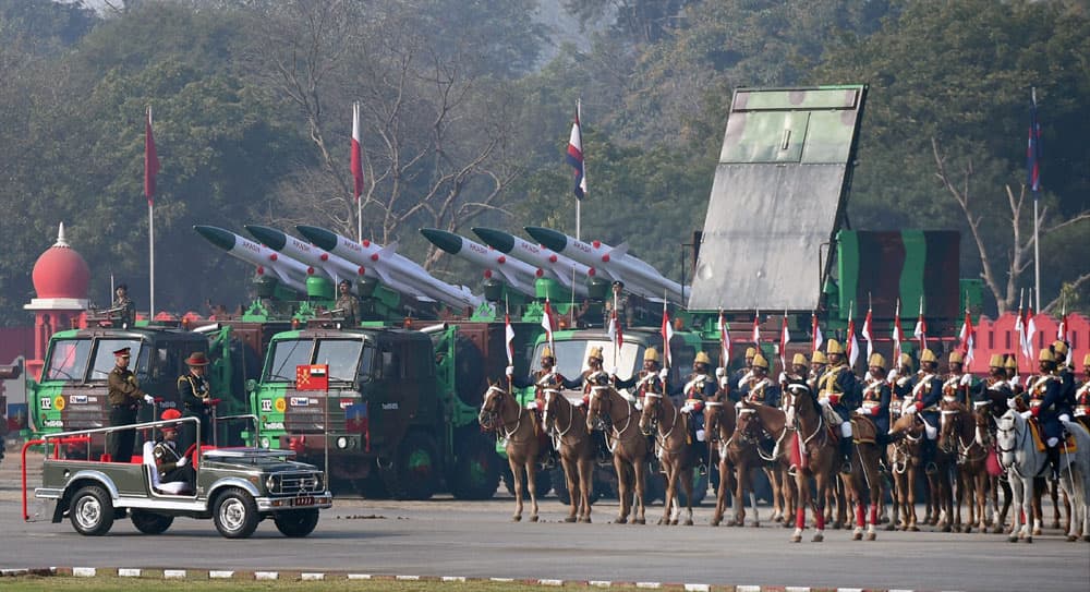
[[[259,75],[295,106],[318,161],[281,188],[272,221],[322,217],[355,235],[353,100],[363,128],[364,235],[388,243],[408,238],[410,227],[457,232],[504,212],[505,190],[520,174],[508,150],[514,101],[505,83],[480,68],[471,39],[436,39],[404,7],[371,9],[290,2],[263,19]],[[439,256],[431,249],[425,267]]]

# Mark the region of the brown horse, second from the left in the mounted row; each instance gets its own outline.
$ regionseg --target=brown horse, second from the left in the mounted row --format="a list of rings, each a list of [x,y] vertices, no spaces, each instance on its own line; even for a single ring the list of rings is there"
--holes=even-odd
[[[586,428],[586,410],[577,407],[559,390],[545,389],[545,431],[560,451],[564,479],[568,484],[571,507],[565,522],[591,521],[591,495],[594,486],[594,447]]]

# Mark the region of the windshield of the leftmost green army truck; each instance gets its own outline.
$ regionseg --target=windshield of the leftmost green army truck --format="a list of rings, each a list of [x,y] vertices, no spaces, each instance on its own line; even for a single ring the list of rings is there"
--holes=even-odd
[[[147,374],[147,352],[140,339],[56,339],[46,363],[46,380],[106,380],[117,365],[113,352],[130,348],[136,364],[129,369],[137,375]]]

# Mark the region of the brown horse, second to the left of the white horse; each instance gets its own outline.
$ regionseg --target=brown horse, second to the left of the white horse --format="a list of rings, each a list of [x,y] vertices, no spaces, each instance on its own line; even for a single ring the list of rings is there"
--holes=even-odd
[[[965,532],[972,532],[973,524],[980,532],[988,532],[984,521],[988,505],[988,450],[977,436],[976,413],[959,402],[942,403],[942,424],[938,428],[938,448],[949,451],[955,459],[957,497],[954,531],[961,532],[961,503],[969,505],[969,519]]]

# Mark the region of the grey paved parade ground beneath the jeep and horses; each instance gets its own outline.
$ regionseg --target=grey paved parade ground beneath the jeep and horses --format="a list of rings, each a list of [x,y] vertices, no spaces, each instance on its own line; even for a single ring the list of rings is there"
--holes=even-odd
[[[1046,530],[1033,544],[995,534],[880,532],[852,542],[850,531],[826,541],[787,542],[779,525],[711,528],[707,502],[694,527],[608,523],[615,500],[594,506],[593,524],[561,522],[555,497],[538,523],[509,521],[505,492],[488,502],[388,502],[339,498],[314,534],[281,536],[263,523],[250,540],[220,537],[210,520],[179,518],[162,535],[140,534],[119,520],[109,535],[85,537],[68,521],[24,523],[19,461],[0,463],[0,568],[98,567],[270,570],[915,590],[1087,590],[1090,544]],[[33,473],[33,469],[32,469]],[[771,514],[761,508],[763,517]],[[649,522],[662,506],[649,508]],[[1051,512],[1051,510],[1050,510]],[[529,508],[528,508],[529,514]],[[1051,514],[1050,514],[1051,516]]]

